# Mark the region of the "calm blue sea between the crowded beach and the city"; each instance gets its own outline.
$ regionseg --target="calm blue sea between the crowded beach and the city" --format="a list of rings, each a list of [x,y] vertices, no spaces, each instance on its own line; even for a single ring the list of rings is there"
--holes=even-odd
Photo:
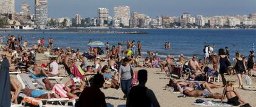
[[[119,30],[119,31],[146,31],[149,34],[96,34],[96,33],[75,33],[74,30],[62,31],[32,31],[30,33],[0,33],[0,35],[20,34],[23,40],[27,39],[30,43],[35,43],[38,38],[54,39],[54,47],[70,46],[74,49],[87,51],[88,41],[109,42],[109,46],[117,46],[117,42],[124,42],[126,48],[126,40],[130,39],[142,42],[143,54],[148,50],[158,51],[160,57],[167,54],[178,57],[184,54],[189,58],[192,55],[203,57],[203,47],[205,44],[213,46],[215,44],[215,52],[218,49],[229,47],[231,58],[234,58],[236,51],[242,52],[243,55],[249,55],[252,50],[252,44],[256,45],[256,30]],[[36,39],[30,39],[34,35]],[[171,42],[171,49],[164,49],[164,42]],[[48,45],[48,42],[46,42]]]

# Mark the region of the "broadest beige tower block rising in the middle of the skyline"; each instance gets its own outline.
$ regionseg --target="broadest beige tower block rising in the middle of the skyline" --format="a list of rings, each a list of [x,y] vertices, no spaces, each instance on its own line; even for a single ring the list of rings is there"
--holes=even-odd
[[[120,23],[122,23],[124,26],[129,26],[130,7],[129,6],[115,6],[114,7],[114,20],[120,20]]]

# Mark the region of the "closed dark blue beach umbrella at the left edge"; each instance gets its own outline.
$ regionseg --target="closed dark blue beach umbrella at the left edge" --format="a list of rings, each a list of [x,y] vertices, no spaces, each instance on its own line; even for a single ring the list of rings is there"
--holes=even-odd
[[[0,66],[0,106],[11,106],[11,84],[9,75],[9,61],[2,60]]]

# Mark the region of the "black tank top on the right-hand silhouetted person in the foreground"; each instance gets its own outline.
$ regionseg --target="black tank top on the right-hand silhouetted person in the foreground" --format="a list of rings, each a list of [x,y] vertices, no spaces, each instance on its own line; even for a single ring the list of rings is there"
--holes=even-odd
[[[129,92],[129,101],[130,106],[132,107],[150,107],[151,101],[150,98],[147,96],[148,88],[145,86],[135,86],[130,89]]]

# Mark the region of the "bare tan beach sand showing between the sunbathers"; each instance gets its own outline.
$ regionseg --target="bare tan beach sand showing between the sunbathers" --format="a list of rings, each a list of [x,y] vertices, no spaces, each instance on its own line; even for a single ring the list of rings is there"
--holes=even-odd
[[[2,54],[3,52],[0,52]],[[5,53],[5,52],[4,52]],[[43,54],[36,54],[36,63],[42,63],[49,61],[48,58],[44,57]],[[80,63],[80,62],[78,62]],[[92,63],[90,63],[92,64]],[[197,106],[192,105],[195,100],[198,98],[194,97],[186,97],[186,98],[178,98],[177,96],[182,95],[181,93],[171,93],[173,89],[168,88],[164,90],[164,86],[168,84],[169,79],[165,75],[164,72],[160,71],[160,68],[135,68],[135,71],[139,69],[147,69],[148,71],[148,82],[146,86],[148,89],[153,90],[153,92],[156,95],[156,98],[158,99],[161,106],[168,107],[168,106]],[[65,76],[64,69],[60,69],[61,76]],[[237,76],[228,76],[226,75],[227,80],[233,80],[236,81],[234,84],[238,85]],[[245,84],[245,79],[244,84]],[[62,83],[65,83],[67,81],[67,77],[65,77],[64,81]],[[222,82],[215,82],[215,84],[222,84]],[[252,78],[252,85],[256,86],[256,79]],[[122,100],[123,93],[121,89],[101,89],[103,93],[105,93],[106,96],[106,102],[108,103],[108,106],[125,106],[126,101]],[[241,97],[247,101],[247,103],[250,103],[251,106],[256,106],[256,89],[237,89],[240,93]],[[223,89],[213,89],[214,92],[222,93]],[[203,100],[213,100],[213,101],[220,101],[215,100],[213,98],[200,98]],[[227,101],[227,100],[224,100]]]

